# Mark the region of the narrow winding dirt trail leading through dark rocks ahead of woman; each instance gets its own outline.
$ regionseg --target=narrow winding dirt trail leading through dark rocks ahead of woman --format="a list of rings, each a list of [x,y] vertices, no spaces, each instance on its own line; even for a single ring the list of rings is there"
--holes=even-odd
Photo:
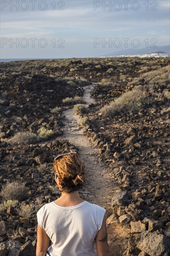
[[[90,97],[93,86],[88,85],[84,87],[83,101],[87,105],[95,103],[94,99]],[[78,126],[79,116],[74,114],[73,108],[65,110],[63,114],[65,118],[63,120],[62,138],[69,140],[78,148],[78,154],[86,164],[85,185],[79,191],[80,197],[105,208],[108,216],[110,216],[112,214],[111,196],[115,190],[115,181],[111,176],[111,170],[104,163],[99,162],[98,148],[88,140],[82,128]],[[110,225],[107,230],[111,256],[121,256],[122,251],[120,247],[125,239],[124,230],[116,223]]]

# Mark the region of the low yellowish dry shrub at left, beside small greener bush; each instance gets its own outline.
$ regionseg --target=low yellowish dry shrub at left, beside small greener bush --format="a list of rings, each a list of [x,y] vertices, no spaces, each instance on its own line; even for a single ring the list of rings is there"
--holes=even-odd
[[[28,144],[29,141],[33,138],[36,138],[37,135],[34,133],[31,133],[29,131],[21,131],[21,132],[17,132],[12,138],[10,138],[8,140],[8,142],[11,145],[18,145],[18,144]]]

